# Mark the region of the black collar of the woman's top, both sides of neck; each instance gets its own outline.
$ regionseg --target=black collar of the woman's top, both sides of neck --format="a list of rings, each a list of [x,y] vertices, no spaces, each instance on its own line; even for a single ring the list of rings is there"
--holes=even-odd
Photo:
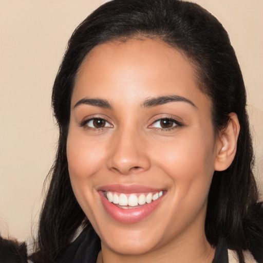
[[[63,253],[58,263],[96,263],[101,250],[99,236],[90,226],[82,231],[68,249]],[[220,238],[212,263],[228,263],[228,247],[226,240]]]

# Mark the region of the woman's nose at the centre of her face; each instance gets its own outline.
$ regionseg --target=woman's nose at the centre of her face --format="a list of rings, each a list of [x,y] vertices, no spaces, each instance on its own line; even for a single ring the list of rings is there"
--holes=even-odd
[[[107,168],[123,175],[147,171],[151,162],[142,137],[130,129],[116,134],[111,141]]]

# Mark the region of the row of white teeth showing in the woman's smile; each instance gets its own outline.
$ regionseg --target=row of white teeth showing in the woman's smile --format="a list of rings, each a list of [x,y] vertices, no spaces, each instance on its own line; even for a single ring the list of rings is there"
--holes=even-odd
[[[130,194],[126,195],[123,193],[112,193],[107,192],[106,196],[109,202],[113,202],[115,204],[119,204],[125,208],[125,206],[137,206],[143,205],[145,203],[151,203],[152,201],[157,200],[159,197],[163,195],[163,191],[160,191],[159,193],[148,193],[147,196],[145,194],[140,194],[139,197],[138,194]]]

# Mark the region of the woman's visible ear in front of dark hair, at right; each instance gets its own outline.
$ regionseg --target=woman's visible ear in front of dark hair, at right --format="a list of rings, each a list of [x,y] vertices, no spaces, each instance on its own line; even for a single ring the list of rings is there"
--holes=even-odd
[[[232,112],[227,127],[220,131],[217,138],[215,171],[226,170],[234,160],[239,130],[237,115]]]

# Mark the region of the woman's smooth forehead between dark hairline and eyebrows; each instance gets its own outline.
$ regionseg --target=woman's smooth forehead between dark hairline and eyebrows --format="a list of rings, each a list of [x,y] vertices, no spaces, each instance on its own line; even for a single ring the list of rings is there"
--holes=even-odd
[[[128,97],[141,103],[143,98],[166,95],[210,101],[195,76],[183,52],[160,40],[107,42],[93,48],[80,66],[72,103],[81,97]]]

